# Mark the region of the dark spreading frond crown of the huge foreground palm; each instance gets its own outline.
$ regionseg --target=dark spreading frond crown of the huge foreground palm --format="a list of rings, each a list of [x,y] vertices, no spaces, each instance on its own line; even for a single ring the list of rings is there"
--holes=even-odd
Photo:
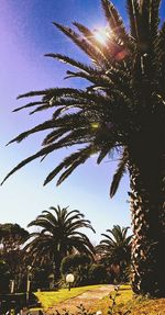
[[[79,33],[54,23],[90,57],[92,65],[84,65],[61,54],[46,56],[72,65],[78,71],[67,71],[67,77],[86,79],[89,85],[84,90],[54,88],[19,97],[42,95],[42,99],[15,111],[24,108],[32,109],[31,113],[50,108],[55,111],[50,120],[10,142],[20,143],[31,134],[50,131],[43,140],[43,148],[20,162],[7,178],[35,158],[44,158],[66,146],[84,144],[84,148],[66,157],[44,182],[46,184],[62,171],[57,181],[59,184],[91,154],[98,154],[97,161],[100,164],[107,154],[117,149],[121,161],[111,187],[112,196],[130,160],[130,150],[140,144],[142,135],[141,147],[146,145],[148,135],[152,142],[157,142],[157,138],[158,143],[163,142],[165,24],[158,29],[160,2],[128,0],[128,33],[113,4],[101,0],[109,25],[105,45],[96,40],[94,31],[80,23],[74,23]]]

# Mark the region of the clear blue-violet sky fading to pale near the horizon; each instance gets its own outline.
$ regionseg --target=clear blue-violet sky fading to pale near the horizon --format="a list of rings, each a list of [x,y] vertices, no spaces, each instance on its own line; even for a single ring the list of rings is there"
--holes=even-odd
[[[164,1],[164,0],[163,0]],[[0,1],[0,178],[21,159],[37,150],[43,135],[31,137],[20,145],[6,144],[20,132],[46,119],[46,113],[28,116],[26,111],[12,113],[24,101],[18,94],[29,90],[73,85],[64,81],[66,66],[45,58],[46,53],[63,53],[85,60],[85,56],[52,24],[70,25],[79,21],[91,29],[106,25],[99,0],[1,0]],[[124,15],[121,0],[113,1]],[[122,3],[122,4],[121,4]],[[162,11],[163,12],[163,11]],[[77,86],[81,83],[75,82]],[[78,209],[89,218],[97,235],[113,224],[131,224],[125,176],[117,195],[110,200],[109,185],[116,161],[107,158],[97,166],[95,157],[79,167],[61,187],[55,181],[43,188],[48,171],[67,154],[57,151],[40,164],[26,166],[0,188],[0,223],[12,222],[26,227],[28,223],[50,206]]]

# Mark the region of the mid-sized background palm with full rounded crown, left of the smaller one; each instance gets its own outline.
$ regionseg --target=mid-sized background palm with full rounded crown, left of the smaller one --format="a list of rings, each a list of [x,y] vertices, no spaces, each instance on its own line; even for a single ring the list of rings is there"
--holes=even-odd
[[[43,211],[29,224],[29,227],[36,226],[40,230],[30,234],[24,249],[32,258],[32,263],[52,262],[57,280],[61,262],[67,254],[77,250],[92,257],[94,246],[87,235],[79,229],[82,227],[92,232],[95,229],[90,222],[84,218],[84,214],[77,210],[68,211],[67,207],[61,209],[59,206],[51,206],[50,210]]]

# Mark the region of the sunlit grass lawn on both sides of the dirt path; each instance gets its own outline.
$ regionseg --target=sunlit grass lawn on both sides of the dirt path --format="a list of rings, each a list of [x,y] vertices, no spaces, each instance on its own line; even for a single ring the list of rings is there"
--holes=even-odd
[[[43,308],[46,311],[46,308],[52,307],[55,304],[100,286],[101,285],[89,285],[73,288],[70,291],[62,289],[56,292],[36,292],[35,295],[38,297]],[[112,296],[114,296],[114,294],[116,292],[111,293]],[[91,306],[90,312],[96,313],[97,311],[101,311],[102,315],[107,315],[111,305],[112,300],[109,296],[106,296],[102,300],[97,300],[95,305]],[[113,310],[113,313],[109,314],[123,315],[127,311],[131,311],[131,315],[165,315],[165,299],[135,297],[130,285],[122,285],[118,292],[118,296],[116,297],[116,308]]]

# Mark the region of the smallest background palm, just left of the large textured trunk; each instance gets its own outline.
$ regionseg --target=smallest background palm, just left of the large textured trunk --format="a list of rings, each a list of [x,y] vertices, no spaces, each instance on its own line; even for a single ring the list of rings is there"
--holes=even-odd
[[[114,225],[112,229],[107,229],[107,234],[101,234],[105,238],[96,248],[102,262],[111,266],[112,269],[118,269],[120,280],[123,280],[123,273],[131,262],[132,236],[128,236],[128,229],[129,227],[119,225]]]

